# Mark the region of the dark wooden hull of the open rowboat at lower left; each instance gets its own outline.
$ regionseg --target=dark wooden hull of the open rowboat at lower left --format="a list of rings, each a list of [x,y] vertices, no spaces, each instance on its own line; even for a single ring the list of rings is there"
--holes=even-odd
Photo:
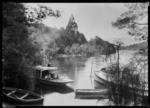
[[[37,97],[36,99],[19,99],[19,98],[15,98],[13,96],[8,96],[4,90],[16,90],[16,92],[19,93],[28,93],[27,90],[22,90],[22,89],[16,89],[16,88],[10,88],[10,87],[3,87],[3,91],[2,91],[2,96],[3,96],[3,100],[7,101],[9,103],[13,103],[13,104],[42,104],[44,98],[36,93],[30,92],[29,95],[32,95],[34,97]]]

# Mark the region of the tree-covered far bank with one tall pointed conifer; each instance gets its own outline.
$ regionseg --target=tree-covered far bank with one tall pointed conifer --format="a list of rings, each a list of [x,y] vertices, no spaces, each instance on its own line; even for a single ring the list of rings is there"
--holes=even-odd
[[[85,35],[78,31],[75,18],[71,15],[66,28],[52,28],[44,24],[35,24],[28,28],[30,38],[38,43],[46,56],[57,54],[99,55],[115,53],[113,44],[95,36],[87,41]]]

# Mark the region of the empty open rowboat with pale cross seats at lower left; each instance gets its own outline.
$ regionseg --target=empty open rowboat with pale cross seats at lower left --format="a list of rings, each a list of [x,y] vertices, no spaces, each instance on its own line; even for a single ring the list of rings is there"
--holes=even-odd
[[[3,98],[6,101],[22,104],[43,103],[43,97],[22,89],[3,87]]]

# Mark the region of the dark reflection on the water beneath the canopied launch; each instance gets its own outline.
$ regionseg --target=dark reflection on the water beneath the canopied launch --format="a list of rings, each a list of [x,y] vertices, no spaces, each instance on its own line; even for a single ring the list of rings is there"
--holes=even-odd
[[[36,84],[35,85],[35,92],[38,92],[39,94],[50,94],[53,92],[58,92],[61,94],[66,94],[66,93],[71,93],[74,92],[74,89],[68,85],[63,85],[63,86],[55,86],[55,85],[40,85]]]

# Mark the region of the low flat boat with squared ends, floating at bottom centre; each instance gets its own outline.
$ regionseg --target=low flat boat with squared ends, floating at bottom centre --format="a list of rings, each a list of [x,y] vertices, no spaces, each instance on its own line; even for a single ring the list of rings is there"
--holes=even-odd
[[[76,89],[75,95],[80,99],[107,98],[107,89]]]

